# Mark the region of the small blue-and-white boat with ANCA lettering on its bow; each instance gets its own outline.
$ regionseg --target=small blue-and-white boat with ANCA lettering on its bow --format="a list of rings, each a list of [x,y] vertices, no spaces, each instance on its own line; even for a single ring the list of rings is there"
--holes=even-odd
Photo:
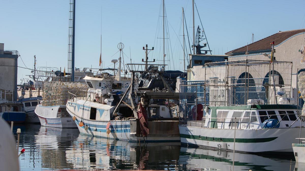
[[[22,96],[21,96],[22,97]],[[35,114],[36,106],[38,105],[38,100],[41,97],[29,97],[29,98],[19,98],[19,103],[23,104],[24,112],[26,113],[25,122],[26,123],[39,123],[39,118]]]

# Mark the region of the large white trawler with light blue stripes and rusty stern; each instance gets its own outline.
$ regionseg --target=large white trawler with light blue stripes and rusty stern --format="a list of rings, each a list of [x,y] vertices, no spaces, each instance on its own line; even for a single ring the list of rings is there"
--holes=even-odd
[[[118,47],[124,47],[124,45],[120,43]],[[112,62],[115,65],[118,60]],[[95,77],[86,76],[84,80],[89,86],[88,91],[81,94],[71,93],[73,98],[67,101],[66,107],[79,131],[86,135],[127,141],[180,141],[179,120],[172,117],[169,106],[150,103],[150,99],[155,98],[152,95],[159,94],[163,96],[163,99],[167,99],[170,96],[167,96],[166,91],[172,93],[163,77],[164,72],[158,71],[159,65],[154,65],[149,71],[146,60],[146,64],[133,67],[145,66],[144,71],[133,71],[129,67],[131,78],[127,78],[126,75],[121,77],[120,64],[121,57],[119,72],[116,73],[116,70],[113,70],[113,75],[104,72],[98,73]],[[146,92],[140,96],[137,93],[139,82],[135,73],[159,75],[162,84],[166,85],[166,90],[149,92],[146,89]]]

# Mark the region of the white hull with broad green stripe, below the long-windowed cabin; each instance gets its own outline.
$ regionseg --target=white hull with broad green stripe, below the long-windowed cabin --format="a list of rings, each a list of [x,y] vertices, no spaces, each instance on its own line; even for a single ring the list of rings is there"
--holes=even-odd
[[[240,152],[292,152],[300,128],[214,129],[179,125],[181,144]],[[235,132],[236,131],[236,132]]]

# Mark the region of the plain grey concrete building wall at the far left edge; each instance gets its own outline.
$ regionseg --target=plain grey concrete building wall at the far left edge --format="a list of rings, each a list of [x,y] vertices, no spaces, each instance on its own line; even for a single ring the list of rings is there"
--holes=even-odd
[[[0,89],[14,91],[14,101],[17,99],[17,58],[18,55],[0,54]]]

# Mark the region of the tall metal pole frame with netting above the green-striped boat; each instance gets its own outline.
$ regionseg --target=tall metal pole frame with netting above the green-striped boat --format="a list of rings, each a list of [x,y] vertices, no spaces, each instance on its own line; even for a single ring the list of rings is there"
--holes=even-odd
[[[292,62],[273,62],[239,60],[206,63],[204,80],[186,81],[180,85],[180,92],[196,92],[194,97],[181,93],[182,116],[188,117],[194,107],[197,113],[196,106],[199,104],[204,107],[246,105],[248,99],[262,99],[265,104],[275,104],[275,98],[291,97]]]

